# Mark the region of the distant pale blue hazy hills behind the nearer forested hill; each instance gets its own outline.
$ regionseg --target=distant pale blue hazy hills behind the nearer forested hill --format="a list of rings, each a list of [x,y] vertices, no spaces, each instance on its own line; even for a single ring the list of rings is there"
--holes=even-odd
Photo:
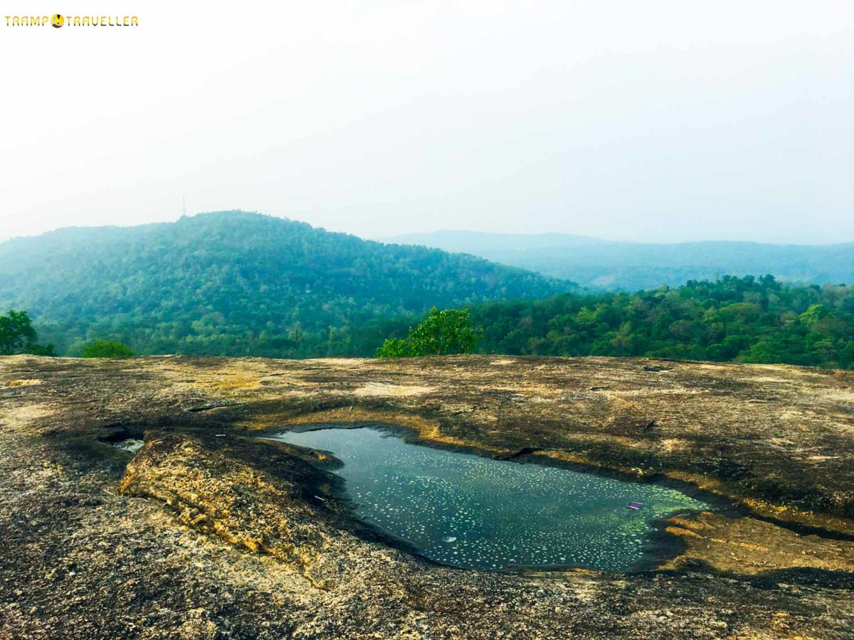
[[[647,244],[569,234],[495,234],[442,230],[384,238],[387,242],[471,253],[608,290],[678,287],[717,276],[761,276],[824,284],[854,282],[854,242],[775,245],[741,241]]]

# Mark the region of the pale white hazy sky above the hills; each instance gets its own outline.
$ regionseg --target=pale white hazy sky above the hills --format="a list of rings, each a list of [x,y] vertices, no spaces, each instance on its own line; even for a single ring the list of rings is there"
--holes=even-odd
[[[229,208],[360,236],[854,241],[851,0],[5,0],[0,237]]]

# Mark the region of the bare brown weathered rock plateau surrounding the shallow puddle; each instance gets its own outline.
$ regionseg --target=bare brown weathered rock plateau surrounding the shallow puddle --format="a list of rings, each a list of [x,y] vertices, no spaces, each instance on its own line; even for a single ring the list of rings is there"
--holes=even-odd
[[[442,567],[266,428],[664,480],[630,573]],[[144,439],[135,452],[111,445]],[[619,358],[0,358],[0,637],[854,637],[854,373]]]

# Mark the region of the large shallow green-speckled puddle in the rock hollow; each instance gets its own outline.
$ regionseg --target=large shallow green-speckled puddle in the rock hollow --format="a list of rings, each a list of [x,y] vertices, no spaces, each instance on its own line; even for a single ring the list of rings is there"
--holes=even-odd
[[[376,428],[272,439],[332,452],[361,520],[454,567],[622,571],[649,552],[652,521],[710,508],[665,486],[412,445]]]

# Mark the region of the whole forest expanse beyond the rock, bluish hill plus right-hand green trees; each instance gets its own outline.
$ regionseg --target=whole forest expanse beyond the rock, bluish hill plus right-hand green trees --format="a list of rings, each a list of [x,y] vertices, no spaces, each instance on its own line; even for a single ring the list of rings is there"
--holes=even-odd
[[[854,369],[854,286],[722,276],[595,292],[243,212],[0,245],[0,310],[26,310],[58,355],[120,342],[126,355],[371,356],[418,338],[409,329],[434,306],[471,314],[478,352]]]

